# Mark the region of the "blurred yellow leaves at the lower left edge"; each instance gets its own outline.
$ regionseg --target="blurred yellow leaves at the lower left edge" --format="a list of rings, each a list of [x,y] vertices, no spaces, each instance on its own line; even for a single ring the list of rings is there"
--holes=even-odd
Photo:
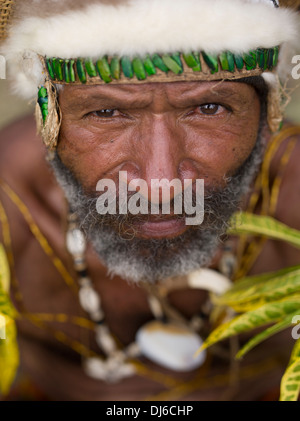
[[[9,268],[0,244],[0,395],[6,395],[19,366],[16,310],[9,299]]]

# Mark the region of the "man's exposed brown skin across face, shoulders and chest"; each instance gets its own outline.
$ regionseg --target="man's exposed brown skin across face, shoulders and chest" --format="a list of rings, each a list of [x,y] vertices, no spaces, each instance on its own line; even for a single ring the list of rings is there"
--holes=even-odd
[[[133,178],[146,181],[151,178],[204,178],[207,186],[222,186],[224,174],[233,174],[252,150],[259,124],[259,99],[255,90],[245,84],[228,82],[218,86],[216,83],[68,86],[60,93],[60,106],[63,124],[58,152],[88,193],[95,192],[100,178],[116,179],[120,170],[128,172],[128,181]],[[100,112],[104,109],[118,111]],[[43,159],[45,151],[40,139],[35,137],[33,119],[24,119],[5,129],[1,138],[1,178],[26,203],[54,252],[75,279],[72,261],[64,245],[67,207],[62,191]],[[276,175],[283,149],[284,145],[273,162],[272,177]],[[276,212],[279,220],[298,229],[299,157],[300,146],[297,145],[284,175]],[[23,216],[2,191],[0,195],[9,215],[15,271],[26,308],[31,313],[87,317],[33,238]],[[293,206],[284,205],[287,199]],[[175,231],[173,235],[178,234]],[[252,273],[298,264],[299,257],[292,247],[268,241]],[[119,277],[110,279],[91,247],[87,263],[95,288],[101,294],[108,325],[122,343],[130,343],[137,329],[151,320],[144,291]],[[203,300],[201,291],[179,291],[170,296],[172,304],[187,317],[201,309]],[[51,332],[26,320],[18,325],[22,370],[52,399],[135,400],[164,390],[158,383],[143,377],[133,377],[114,386],[90,379],[84,375],[76,354],[58,342]],[[73,339],[82,340],[97,352],[92,333],[90,342],[86,342],[87,335],[81,339],[79,329],[70,324],[52,323],[51,326]],[[278,349],[284,366],[288,359],[288,344],[292,344],[290,334],[284,340],[285,349],[277,346],[278,339],[273,338],[273,342],[266,342],[266,346],[252,351],[247,362],[263,361],[270,355],[271,347],[272,351]],[[211,373],[218,373],[218,370],[219,364],[215,362]],[[171,372],[168,374],[175,376]],[[234,391],[230,399],[259,399],[278,385],[281,375],[282,369],[271,370],[264,375],[263,382],[257,378],[242,382],[239,391]],[[187,380],[192,375],[177,377]],[[223,389],[211,388],[183,398],[211,400],[223,397]]]

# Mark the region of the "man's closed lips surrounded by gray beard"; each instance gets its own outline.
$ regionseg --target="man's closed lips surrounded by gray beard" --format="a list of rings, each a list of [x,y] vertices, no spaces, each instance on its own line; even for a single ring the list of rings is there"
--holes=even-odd
[[[185,218],[152,218],[133,223],[136,236],[141,238],[173,238],[187,230]]]

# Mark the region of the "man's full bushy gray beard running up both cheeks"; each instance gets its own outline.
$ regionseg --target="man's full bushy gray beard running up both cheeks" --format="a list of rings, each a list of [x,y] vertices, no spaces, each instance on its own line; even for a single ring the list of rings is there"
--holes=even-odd
[[[132,215],[99,215],[97,197],[84,193],[57,153],[51,166],[70,209],[78,216],[80,228],[108,273],[130,282],[154,283],[186,275],[210,264],[228,228],[230,217],[239,209],[241,199],[250,189],[261,164],[263,149],[259,135],[250,156],[236,174],[225,178],[226,186],[206,191],[203,223],[189,227],[185,233],[171,239],[142,239],[136,237],[134,231],[130,237],[124,236],[122,228],[124,224],[130,226],[130,221],[134,220]]]

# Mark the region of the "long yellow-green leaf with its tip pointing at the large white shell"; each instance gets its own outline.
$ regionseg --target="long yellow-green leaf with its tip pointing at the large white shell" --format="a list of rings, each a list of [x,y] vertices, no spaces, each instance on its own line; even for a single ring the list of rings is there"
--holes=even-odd
[[[230,336],[276,322],[285,318],[288,314],[294,314],[295,312],[300,313],[300,295],[265,304],[217,327],[206,339],[201,349],[205,349]]]

